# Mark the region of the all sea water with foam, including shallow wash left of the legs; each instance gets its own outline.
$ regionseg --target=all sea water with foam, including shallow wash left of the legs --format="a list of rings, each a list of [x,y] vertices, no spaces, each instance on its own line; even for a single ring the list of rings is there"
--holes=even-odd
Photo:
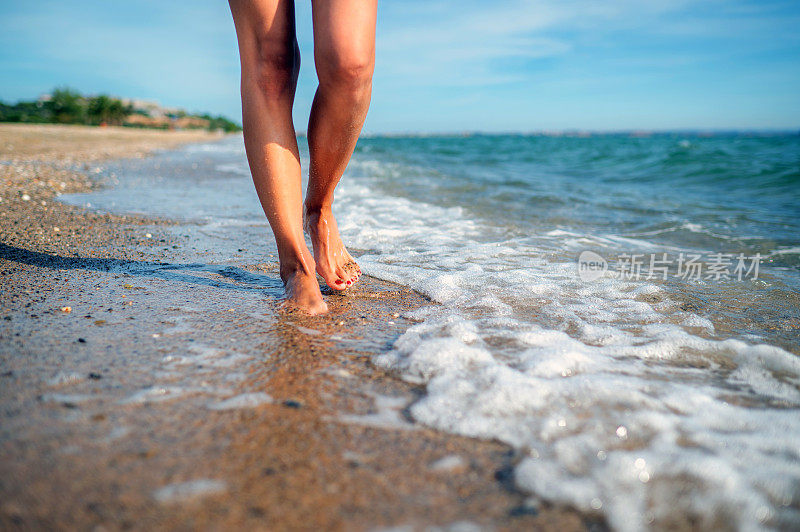
[[[124,173],[68,201],[264,260],[240,137]],[[375,358],[425,384],[417,423],[511,445],[532,504],[757,530],[800,526],[798,199],[797,135],[370,137],[335,213],[437,303]]]

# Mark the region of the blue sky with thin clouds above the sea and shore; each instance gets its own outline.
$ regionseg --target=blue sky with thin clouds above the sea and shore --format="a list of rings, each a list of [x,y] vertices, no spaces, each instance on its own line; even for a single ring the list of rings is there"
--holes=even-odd
[[[800,128],[800,2],[381,0],[368,132]],[[310,1],[295,119],[316,86]],[[55,86],[239,119],[226,2],[0,2],[0,99]]]

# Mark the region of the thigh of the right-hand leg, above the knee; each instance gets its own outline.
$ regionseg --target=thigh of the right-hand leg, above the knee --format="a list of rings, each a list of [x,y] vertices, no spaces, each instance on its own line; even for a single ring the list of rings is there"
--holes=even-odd
[[[363,69],[375,62],[377,0],[313,0],[314,62],[330,69]]]

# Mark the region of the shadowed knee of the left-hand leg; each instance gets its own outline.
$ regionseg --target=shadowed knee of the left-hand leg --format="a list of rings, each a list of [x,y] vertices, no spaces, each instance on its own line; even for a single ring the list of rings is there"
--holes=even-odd
[[[300,49],[297,43],[286,45],[259,39],[253,60],[253,81],[268,100],[284,100],[294,96],[300,71]]]

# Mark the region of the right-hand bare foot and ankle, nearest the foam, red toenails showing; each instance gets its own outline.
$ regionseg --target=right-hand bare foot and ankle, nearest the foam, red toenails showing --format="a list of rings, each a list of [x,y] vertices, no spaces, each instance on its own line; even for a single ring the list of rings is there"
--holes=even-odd
[[[361,268],[345,249],[331,209],[303,209],[303,229],[311,237],[317,273],[334,290],[344,290],[361,277]]]

